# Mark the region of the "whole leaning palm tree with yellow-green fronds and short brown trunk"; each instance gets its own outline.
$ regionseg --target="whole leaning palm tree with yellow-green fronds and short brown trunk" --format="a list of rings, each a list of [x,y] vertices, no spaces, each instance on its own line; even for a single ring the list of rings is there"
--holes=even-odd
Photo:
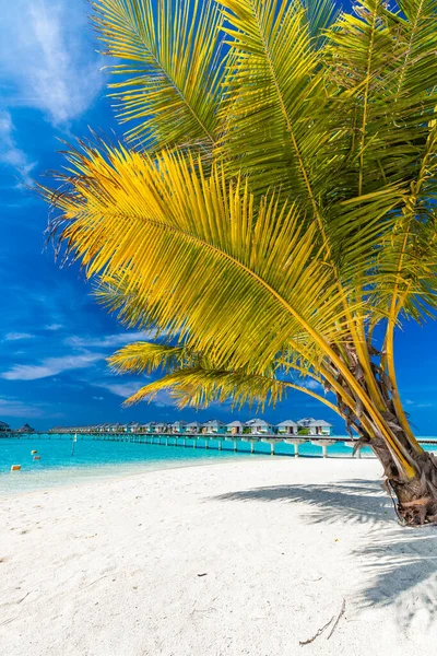
[[[157,336],[111,359],[162,374],[128,402],[299,389],[374,449],[405,523],[437,522],[393,355],[436,307],[437,0],[93,5],[126,142],[70,149],[45,194],[99,300]]]

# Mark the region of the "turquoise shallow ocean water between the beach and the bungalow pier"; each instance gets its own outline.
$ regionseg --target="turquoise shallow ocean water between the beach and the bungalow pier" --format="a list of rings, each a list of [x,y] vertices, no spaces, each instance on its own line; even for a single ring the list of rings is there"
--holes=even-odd
[[[436,446],[424,445],[427,450],[437,450]],[[181,444],[181,441],[180,441]],[[44,435],[38,437],[0,440],[0,494],[27,492],[40,488],[85,482],[86,480],[140,473],[153,469],[168,469],[192,465],[205,465],[236,458],[258,458],[270,454],[270,445],[256,444],[256,453],[250,454],[250,444],[238,441],[238,450],[233,450],[231,441],[223,442],[217,450],[217,442],[211,440],[210,448],[192,448],[193,441],[187,438],[187,447],[164,446],[158,444],[139,444],[129,442],[103,442],[86,436],[78,436],[73,442],[66,435]],[[40,456],[34,460],[32,450]],[[276,445],[277,456],[291,456],[293,446]],[[320,446],[306,443],[299,445],[303,457],[320,457]],[[339,442],[328,447],[330,457],[350,457],[352,448]],[[362,450],[363,457],[373,457],[371,450]],[[21,465],[20,471],[11,471],[12,465]]]

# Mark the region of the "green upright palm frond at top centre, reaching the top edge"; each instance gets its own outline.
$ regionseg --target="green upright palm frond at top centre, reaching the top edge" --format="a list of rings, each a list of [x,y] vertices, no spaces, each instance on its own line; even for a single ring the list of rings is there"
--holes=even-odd
[[[220,0],[232,61],[221,113],[229,171],[251,188],[281,188],[303,206],[317,202],[312,159],[323,133],[326,93],[320,58],[298,0]]]

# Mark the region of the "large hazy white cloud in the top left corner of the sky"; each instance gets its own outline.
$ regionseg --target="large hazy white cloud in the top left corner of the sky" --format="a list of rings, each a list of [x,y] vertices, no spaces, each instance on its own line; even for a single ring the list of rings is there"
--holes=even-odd
[[[84,1],[15,0],[2,12],[0,82],[11,105],[66,125],[87,109],[103,75]]]

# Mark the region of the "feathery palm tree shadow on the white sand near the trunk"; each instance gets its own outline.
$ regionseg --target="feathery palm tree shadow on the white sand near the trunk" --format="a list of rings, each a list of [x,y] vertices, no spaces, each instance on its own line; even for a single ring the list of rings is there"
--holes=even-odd
[[[355,479],[330,484],[272,485],[238,490],[218,501],[305,503],[303,519],[309,524],[367,524],[365,541],[351,553],[364,570],[362,606],[394,605],[398,620],[411,624],[421,611],[424,630],[437,616],[437,527],[404,528],[381,485]],[[355,599],[357,600],[357,599]]]

